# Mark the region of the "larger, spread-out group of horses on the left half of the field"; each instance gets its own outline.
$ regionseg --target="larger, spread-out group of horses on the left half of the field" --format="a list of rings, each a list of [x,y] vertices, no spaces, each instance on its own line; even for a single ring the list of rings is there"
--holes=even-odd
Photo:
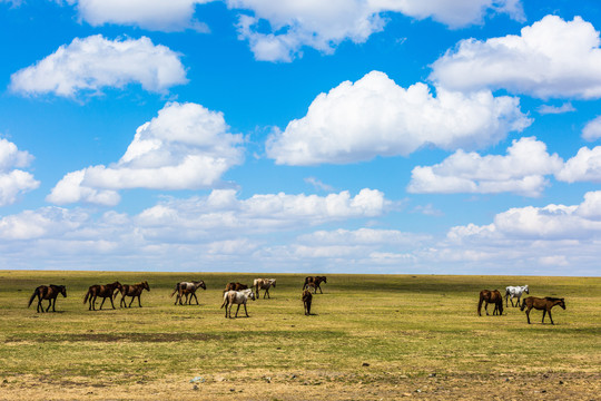
[[[321,284],[327,283],[326,276],[307,276],[305,277],[305,282],[303,284],[303,294],[302,300],[304,304],[305,315],[311,315],[311,304],[313,300],[313,293],[315,294],[317,290],[323,294]],[[238,311],[240,310],[240,305],[244,305],[244,312],[246,313],[246,316],[248,317],[248,311],[246,309],[246,303],[248,299],[255,301],[256,297],[259,297],[260,291],[264,291],[263,299],[265,300],[265,296],[270,299],[269,295],[269,288],[276,287],[276,280],[275,278],[255,278],[253,282],[253,287],[248,287],[246,284],[242,283],[227,283],[225,290],[224,290],[224,303],[221,304],[221,307],[225,306],[226,309],[226,317],[231,317],[231,306],[238,305],[236,310],[236,317],[238,317]],[[174,297],[174,295],[177,294],[174,305],[177,305],[178,303],[180,305],[190,305],[193,299],[196,301],[196,304],[198,305],[198,297],[196,296],[196,291],[198,288],[207,290],[207,285],[204,281],[193,281],[193,282],[179,282],[176,284],[174,292],[171,293],[170,297]],[[141,294],[146,291],[150,291],[150,286],[148,285],[147,281],[144,281],[138,284],[121,284],[119,282],[109,283],[109,284],[95,284],[88,288],[88,292],[83,296],[83,304],[88,303],[89,311],[96,311],[96,301],[100,297],[102,299],[102,302],[100,303],[100,310],[105,305],[105,301],[107,299],[110,301],[110,305],[112,309],[115,309],[115,304],[112,300],[116,300],[119,294],[121,294],[121,301],[119,303],[120,307],[131,307],[131,304],[134,303],[134,300],[138,299],[138,306],[141,307]],[[65,285],[40,285],[35,291],[31,297],[29,299],[28,307],[31,306],[31,303],[36,297],[38,297],[38,307],[37,311],[45,312],[42,306],[42,300],[48,301],[48,307],[46,307],[46,312],[50,310],[50,306],[52,307],[52,312],[56,312],[56,304],[57,304],[57,297],[58,295],[62,295],[63,297],[67,297],[67,287]],[[131,297],[131,301],[129,304],[126,302],[126,296]]]

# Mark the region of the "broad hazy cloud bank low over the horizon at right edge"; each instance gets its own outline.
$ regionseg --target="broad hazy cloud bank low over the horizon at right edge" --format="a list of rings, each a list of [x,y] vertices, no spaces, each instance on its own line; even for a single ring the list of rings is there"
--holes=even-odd
[[[453,227],[415,255],[465,273],[598,276],[600,244],[601,192],[591,192],[580,205],[515,207],[487,225]]]

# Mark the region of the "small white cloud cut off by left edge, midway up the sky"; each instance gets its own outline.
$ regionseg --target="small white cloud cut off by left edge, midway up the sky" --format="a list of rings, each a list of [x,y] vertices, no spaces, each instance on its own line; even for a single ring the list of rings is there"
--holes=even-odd
[[[0,206],[13,204],[19,195],[40,185],[33,175],[18,169],[29,166],[32,159],[28,151],[19,150],[13,143],[0,138]]]

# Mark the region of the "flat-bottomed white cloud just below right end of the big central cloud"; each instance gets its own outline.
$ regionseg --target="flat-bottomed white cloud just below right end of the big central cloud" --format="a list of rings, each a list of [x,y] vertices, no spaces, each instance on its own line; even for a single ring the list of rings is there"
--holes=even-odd
[[[513,140],[506,156],[480,156],[457,150],[441,164],[418,166],[412,172],[410,193],[497,194],[511,192],[540,196],[548,182],[545,175],[561,170],[563,160],[546,153],[546,145],[534,137]]]

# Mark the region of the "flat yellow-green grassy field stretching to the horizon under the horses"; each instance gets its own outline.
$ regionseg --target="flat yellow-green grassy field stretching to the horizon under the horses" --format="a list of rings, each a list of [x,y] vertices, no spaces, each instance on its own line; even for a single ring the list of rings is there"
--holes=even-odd
[[[0,271],[0,400],[600,399],[599,277],[328,275],[305,316],[305,275],[276,274],[226,320],[225,284],[257,276]],[[88,286],[116,280],[149,282],[142,307],[88,311]],[[207,283],[200,305],[174,305],[183,280]],[[28,309],[50,283],[57,313]],[[480,290],[523,284],[565,297],[555,325],[511,304],[477,316]]]

